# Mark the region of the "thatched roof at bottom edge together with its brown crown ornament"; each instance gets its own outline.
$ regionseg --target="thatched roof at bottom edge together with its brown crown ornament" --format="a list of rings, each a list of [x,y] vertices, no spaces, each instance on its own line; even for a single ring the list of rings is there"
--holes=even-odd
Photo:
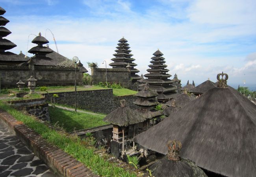
[[[207,177],[194,162],[180,158],[180,142],[169,141],[167,146],[168,155],[150,166],[154,177]]]

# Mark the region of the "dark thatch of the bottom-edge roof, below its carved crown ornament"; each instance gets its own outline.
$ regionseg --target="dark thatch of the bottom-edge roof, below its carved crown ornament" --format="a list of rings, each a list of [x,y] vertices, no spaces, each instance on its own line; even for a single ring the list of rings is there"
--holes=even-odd
[[[173,161],[163,157],[150,166],[150,170],[155,177],[207,177],[202,169],[187,159]]]

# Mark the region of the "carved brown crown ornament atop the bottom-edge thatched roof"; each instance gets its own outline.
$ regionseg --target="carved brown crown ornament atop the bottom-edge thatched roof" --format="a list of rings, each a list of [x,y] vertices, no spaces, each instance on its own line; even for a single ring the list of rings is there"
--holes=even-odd
[[[168,159],[178,161],[180,160],[180,149],[181,142],[174,140],[170,140],[167,143],[168,146]]]

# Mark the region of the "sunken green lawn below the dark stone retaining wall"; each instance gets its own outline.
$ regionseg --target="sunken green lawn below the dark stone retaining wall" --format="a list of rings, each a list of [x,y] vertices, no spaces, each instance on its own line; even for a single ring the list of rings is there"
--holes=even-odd
[[[58,107],[49,107],[52,124],[59,124],[67,132],[87,129],[108,124],[103,121],[105,115],[93,115],[82,112],[67,111]]]

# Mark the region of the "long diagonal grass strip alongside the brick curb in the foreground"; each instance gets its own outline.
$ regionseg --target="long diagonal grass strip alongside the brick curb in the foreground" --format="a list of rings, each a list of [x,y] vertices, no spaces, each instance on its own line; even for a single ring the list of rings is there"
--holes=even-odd
[[[65,152],[72,155],[75,159],[79,160],[88,166],[94,173],[107,176],[107,177],[136,177],[132,171],[126,171],[123,168],[117,167],[116,164],[104,160],[99,155],[94,154],[93,147],[85,147],[77,136],[65,136],[52,129],[45,124],[36,121],[33,117],[23,114],[8,105],[0,102],[0,107],[4,111],[9,112],[17,120],[22,121],[28,127],[34,129],[48,142],[55,144]]]

